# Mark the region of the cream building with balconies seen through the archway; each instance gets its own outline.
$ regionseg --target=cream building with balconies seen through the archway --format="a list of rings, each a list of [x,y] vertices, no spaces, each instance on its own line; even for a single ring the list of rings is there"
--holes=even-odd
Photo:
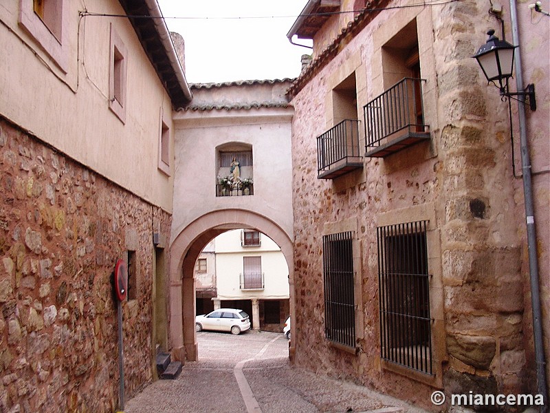
[[[254,330],[282,331],[290,312],[288,266],[267,235],[251,229],[218,235],[199,255],[195,279],[197,315],[239,308]]]

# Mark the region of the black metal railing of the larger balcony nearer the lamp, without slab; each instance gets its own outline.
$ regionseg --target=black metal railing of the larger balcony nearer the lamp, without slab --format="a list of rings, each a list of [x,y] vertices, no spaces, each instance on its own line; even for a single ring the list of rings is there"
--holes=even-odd
[[[366,152],[391,141],[399,132],[426,134],[422,82],[404,78],[363,107]],[[396,136],[397,137],[397,136]]]

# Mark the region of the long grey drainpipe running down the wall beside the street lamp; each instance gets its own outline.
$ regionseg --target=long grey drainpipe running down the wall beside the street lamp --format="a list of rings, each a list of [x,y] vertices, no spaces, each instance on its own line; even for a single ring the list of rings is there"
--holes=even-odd
[[[520,44],[518,30],[518,12],[516,0],[510,0],[510,19],[512,28],[512,39],[514,44]],[[521,67],[521,48],[514,54],[516,65],[516,87],[523,90],[523,72]],[[527,127],[525,123],[525,95],[518,96],[519,127],[520,127],[520,152],[523,178],[523,194],[525,198],[525,217],[527,223],[527,248],[529,251],[529,276],[531,279],[531,307],[533,310],[533,339],[535,344],[535,361],[537,372],[538,394],[544,398],[544,406],[540,412],[548,412],[547,377],[544,361],[544,343],[542,339],[542,314],[540,311],[540,293],[538,286],[538,257],[535,229],[535,211],[533,207],[533,190],[531,184],[531,160],[529,158],[529,147],[527,142]]]

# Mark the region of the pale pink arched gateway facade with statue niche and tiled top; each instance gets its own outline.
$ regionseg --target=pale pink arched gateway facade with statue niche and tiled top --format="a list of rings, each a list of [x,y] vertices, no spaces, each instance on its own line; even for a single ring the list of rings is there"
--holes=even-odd
[[[267,235],[292,279],[290,85],[289,79],[190,85],[192,104],[174,114],[170,342],[181,360],[199,357],[195,264],[214,237],[233,229]],[[292,294],[290,285],[291,307]]]

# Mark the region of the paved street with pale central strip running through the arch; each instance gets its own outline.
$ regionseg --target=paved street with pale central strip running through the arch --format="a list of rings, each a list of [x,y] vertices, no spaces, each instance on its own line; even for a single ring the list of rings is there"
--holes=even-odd
[[[274,332],[199,332],[199,361],[176,380],[159,380],[126,402],[124,413],[415,412],[415,407],[291,368],[288,341]]]

